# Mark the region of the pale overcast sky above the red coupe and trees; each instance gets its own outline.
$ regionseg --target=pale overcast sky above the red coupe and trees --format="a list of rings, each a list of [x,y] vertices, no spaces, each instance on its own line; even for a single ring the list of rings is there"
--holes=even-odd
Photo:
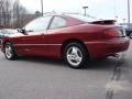
[[[118,15],[120,22],[123,22],[123,19],[128,19],[127,1],[128,0],[43,0],[44,12],[54,10],[56,12],[84,13],[82,7],[88,6],[88,14],[97,16],[98,19],[114,19],[114,16]],[[132,0],[130,1],[132,9]],[[41,0],[20,0],[20,2],[30,12],[41,11]]]

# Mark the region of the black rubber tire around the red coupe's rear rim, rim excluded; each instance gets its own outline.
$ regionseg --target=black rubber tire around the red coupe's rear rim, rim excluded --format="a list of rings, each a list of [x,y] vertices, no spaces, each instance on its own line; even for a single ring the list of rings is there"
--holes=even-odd
[[[81,63],[80,63],[78,66],[74,66],[74,65],[72,65],[70,63],[68,63],[68,61],[67,61],[67,51],[68,51],[68,48],[72,47],[72,46],[76,46],[76,47],[78,47],[78,48],[81,51],[82,61],[81,61]],[[65,59],[65,62],[66,62],[72,68],[84,68],[84,67],[86,67],[85,65],[86,65],[86,61],[88,59],[88,55],[87,55],[87,52],[86,52],[86,50],[82,47],[81,44],[79,44],[79,43],[70,43],[70,44],[68,44],[68,45],[65,47],[65,51],[64,51],[64,59]]]

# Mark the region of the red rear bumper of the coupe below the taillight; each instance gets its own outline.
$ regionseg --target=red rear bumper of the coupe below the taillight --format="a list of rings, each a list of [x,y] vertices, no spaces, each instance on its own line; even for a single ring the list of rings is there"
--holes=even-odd
[[[124,52],[129,48],[130,40],[128,37],[117,37],[107,41],[96,41],[86,43],[89,57],[102,58],[116,53]]]

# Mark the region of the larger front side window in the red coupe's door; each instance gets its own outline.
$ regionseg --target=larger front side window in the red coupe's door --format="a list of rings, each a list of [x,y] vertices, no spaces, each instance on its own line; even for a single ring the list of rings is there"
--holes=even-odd
[[[38,32],[45,31],[50,24],[52,16],[42,16],[31,21],[29,24],[25,25],[25,30],[28,32]]]

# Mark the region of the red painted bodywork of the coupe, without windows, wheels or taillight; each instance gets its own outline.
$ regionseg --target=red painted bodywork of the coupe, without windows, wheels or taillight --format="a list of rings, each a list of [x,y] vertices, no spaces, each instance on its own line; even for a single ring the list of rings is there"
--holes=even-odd
[[[11,42],[16,54],[61,58],[63,44],[69,40],[77,40],[85,44],[89,58],[92,59],[123,52],[129,47],[130,40],[127,37],[106,37],[106,30],[119,29],[114,24],[90,24],[67,15],[59,16],[67,20],[67,28],[32,32],[26,35],[13,34],[4,37],[3,44]]]

